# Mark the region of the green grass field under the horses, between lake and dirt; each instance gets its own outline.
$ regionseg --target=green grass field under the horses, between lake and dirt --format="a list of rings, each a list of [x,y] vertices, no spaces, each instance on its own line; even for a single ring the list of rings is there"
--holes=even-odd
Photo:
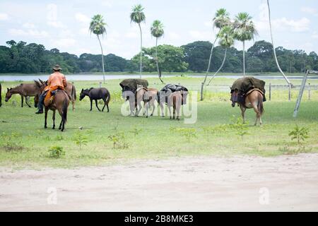
[[[272,101],[265,102],[264,126],[254,127],[255,113],[247,111],[249,126],[241,138],[233,129],[233,119],[240,117],[240,109],[230,106],[230,94],[217,90],[218,85],[230,86],[234,80],[216,78],[206,88],[204,102],[198,102],[198,119],[195,124],[171,121],[168,117],[123,117],[120,80],[107,81],[103,86],[110,90],[110,113],[98,112],[93,105],[89,112],[89,100],[76,101],[76,110],[69,107],[66,131],[44,129],[44,115],[35,115],[35,108],[20,107],[20,97],[4,102],[6,87],[18,83],[2,83],[2,107],[0,107],[0,165],[6,167],[78,167],[108,165],[131,159],[158,159],[184,155],[261,155],[275,156],[318,151],[318,91],[312,90],[312,99],[303,102],[297,119],[293,108],[298,90],[293,90],[288,101],[287,90],[273,90]],[[158,78],[148,79],[149,86],[162,88]],[[284,84],[284,81],[266,81]],[[300,84],[301,81],[293,81]],[[317,81],[310,81],[312,85]],[[190,90],[199,91],[201,78],[166,78],[165,83],[180,83]],[[75,82],[77,94],[81,88],[98,87],[98,81]],[[199,99],[199,97],[197,97]],[[32,98],[33,99],[33,98]],[[52,112],[48,126],[52,126]],[[60,117],[57,116],[57,124]],[[309,138],[298,144],[288,133],[295,125],[310,130]],[[79,129],[83,127],[83,129]],[[185,128],[185,129],[182,129]],[[76,136],[86,136],[87,145],[81,150]],[[112,136],[112,141],[110,139]],[[85,139],[84,139],[85,140]],[[116,141],[115,148],[114,142]],[[49,157],[49,148],[61,146],[65,155]]]

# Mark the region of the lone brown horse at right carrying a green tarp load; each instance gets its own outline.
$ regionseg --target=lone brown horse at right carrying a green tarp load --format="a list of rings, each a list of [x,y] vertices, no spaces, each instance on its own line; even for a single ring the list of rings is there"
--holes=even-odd
[[[232,92],[231,100],[232,100],[232,107],[235,107],[235,103],[238,100],[238,97],[240,95],[240,92],[238,90],[234,90]],[[262,124],[261,121],[261,115],[264,112],[264,106],[263,106],[263,93],[261,90],[254,89],[251,90],[245,95],[244,103],[237,102],[237,105],[240,106],[240,109],[242,111],[242,117],[243,117],[243,123],[245,123],[245,111],[246,109],[254,109],[254,112],[257,114],[257,119],[255,121],[254,126],[257,125],[257,121],[259,121],[259,124]]]

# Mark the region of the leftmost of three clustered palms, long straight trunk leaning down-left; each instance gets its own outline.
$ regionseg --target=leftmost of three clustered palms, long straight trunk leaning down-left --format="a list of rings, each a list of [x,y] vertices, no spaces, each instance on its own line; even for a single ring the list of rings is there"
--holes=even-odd
[[[216,11],[216,16],[213,18],[213,28],[220,29],[220,28],[223,28],[225,25],[229,25],[229,24],[230,24],[230,13],[228,13],[225,8],[218,9]],[[216,45],[217,40],[218,40],[218,34],[216,35],[216,39],[214,40],[212,44],[210,58],[208,59],[208,69],[206,69],[206,77],[204,78],[204,82],[201,85],[201,100],[203,100],[204,84],[206,83],[206,78],[208,77],[208,71],[210,71],[213,48]]]

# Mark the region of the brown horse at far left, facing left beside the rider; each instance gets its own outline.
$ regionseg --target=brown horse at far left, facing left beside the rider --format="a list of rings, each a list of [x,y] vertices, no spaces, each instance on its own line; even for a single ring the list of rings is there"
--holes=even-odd
[[[10,100],[11,96],[14,94],[20,94],[21,96],[21,107],[23,107],[23,97],[25,97],[25,103],[28,105],[28,107],[31,107],[28,104],[28,97],[35,97],[37,93],[39,93],[39,88],[34,83],[21,83],[20,85],[16,86],[15,88],[7,88],[6,92],[6,99],[5,101],[8,102]],[[37,101],[35,99],[34,102],[35,106],[37,107]]]

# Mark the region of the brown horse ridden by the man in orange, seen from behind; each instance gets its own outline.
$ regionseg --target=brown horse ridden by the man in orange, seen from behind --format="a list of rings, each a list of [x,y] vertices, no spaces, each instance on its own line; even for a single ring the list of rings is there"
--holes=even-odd
[[[37,83],[40,85],[39,83]],[[47,86],[47,83],[43,83],[40,88],[40,92],[38,95],[41,95],[45,87]],[[55,129],[55,112],[56,110],[59,112],[59,115],[61,116],[61,123],[59,124],[59,130],[62,132],[65,129],[65,124],[67,121],[67,108],[69,107],[69,95],[64,90],[55,90],[55,95],[53,97],[52,103],[49,106],[45,106],[45,129],[47,129],[47,112],[49,112],[49,109],[53,111],[53,127],[52,129]]]

